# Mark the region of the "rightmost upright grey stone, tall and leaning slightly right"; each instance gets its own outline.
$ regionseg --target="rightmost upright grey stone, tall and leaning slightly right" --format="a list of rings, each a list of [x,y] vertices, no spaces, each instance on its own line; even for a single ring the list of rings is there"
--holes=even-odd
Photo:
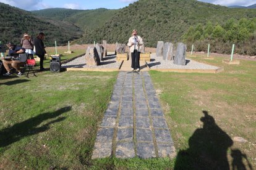
[[[176,65],[186,65],[186,44],[179,42],[177,44],[176,54],[173,63]]]

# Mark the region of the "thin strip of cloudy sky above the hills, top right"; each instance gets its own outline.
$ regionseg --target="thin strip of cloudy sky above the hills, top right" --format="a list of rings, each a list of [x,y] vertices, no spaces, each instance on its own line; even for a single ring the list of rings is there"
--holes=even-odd
[[[255,4],[255,0],[198,0],[202,2],[208,2],[211,4],[221,5],[221,6],[251,6]]]

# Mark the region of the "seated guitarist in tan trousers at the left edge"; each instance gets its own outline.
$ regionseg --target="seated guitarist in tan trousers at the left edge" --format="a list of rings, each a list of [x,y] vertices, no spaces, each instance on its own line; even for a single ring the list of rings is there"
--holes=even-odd
[[[4,76],[11,75],[11,68],[15,68],[15,70],[18,72],[17,76],[21,76],[22,73],[20,72],[20,65],[22,64],[22,62],[20,62],[19,54],[24,53],[25,49],[20,46],[16,46],[12,42],[9,42],[6,45],[9,48],[8,56],[9,57],[12,56],[14,58],[13,59],[4,59],[4,57],[1,57],[2,64],[4,65],[4,68],[6,68],[6,70],[7,70],[7,73],[5,73]]]

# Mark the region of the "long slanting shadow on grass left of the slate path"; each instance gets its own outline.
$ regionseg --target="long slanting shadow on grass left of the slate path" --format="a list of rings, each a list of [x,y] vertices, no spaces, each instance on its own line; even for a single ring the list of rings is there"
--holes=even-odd
[[[35,116],[33,118],[22,121],[20,123],[14,124],[14,126],[1,129],[0,148],[11,145],[12,143],[19,141],[20,139],[23,139],[23,137],[32,136],[34,134],[38,134],[40,132],[44,132],[48,130],[50,124],[57,123],[59,121],[63,121],[64,119],[66,119],[65,117],[59,117],[59,118],[56,118],[56,117],[62,115],[62,113],[65,113],[70,109],[71,107],[64,107],[64,108],[60,108],[57,111],[54,111],[53,113],[51,112],[41,113],[38,116]],[[56,118],[56,119],[53,119],[53,118]],[[46,121],[47,119],[53,119],[53,120],[49,121],[46,124],[38,126],[44,121]]]

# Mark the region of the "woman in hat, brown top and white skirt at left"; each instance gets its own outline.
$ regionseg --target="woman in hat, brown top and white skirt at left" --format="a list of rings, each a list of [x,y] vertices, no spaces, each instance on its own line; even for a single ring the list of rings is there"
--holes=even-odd
[[[23,38],[20,41],[20,44],[24,49],[26,49],[26,53],[30,57],[30,59],[34,59],[33,57],[33,48],[34,48],[34,41],[31,36],[29,36],[27,33],[23,34]]]

